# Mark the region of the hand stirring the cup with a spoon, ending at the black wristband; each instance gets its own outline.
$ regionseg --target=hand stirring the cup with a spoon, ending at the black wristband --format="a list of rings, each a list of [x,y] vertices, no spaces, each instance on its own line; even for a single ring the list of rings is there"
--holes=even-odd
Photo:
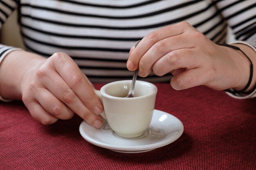
[[[244,88],[249,79],[249,61],[234,49],[219,46],[188,22],[169,25],[146,35],[130,50],[127,68],[139,76],[171,72],[176,90],[205,85],[214,90]]]

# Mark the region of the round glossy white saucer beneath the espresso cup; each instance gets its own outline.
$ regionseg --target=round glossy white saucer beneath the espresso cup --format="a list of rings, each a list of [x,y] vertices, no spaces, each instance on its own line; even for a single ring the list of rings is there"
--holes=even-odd
[[[183,130],[183,124],[177,117],[160,110],[154,110],[150,126],[136,138],[119,137],[106,121],[99,129],[85,121],[79,127],[82,137],[91,144],[124,153],[148,152],[166,146],[177,140]]]

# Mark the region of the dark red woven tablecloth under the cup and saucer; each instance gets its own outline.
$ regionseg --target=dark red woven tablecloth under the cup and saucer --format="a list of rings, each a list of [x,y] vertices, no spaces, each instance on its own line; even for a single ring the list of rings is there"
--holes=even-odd
[[[180,119],[184,133],[172,144],[136,154],[88,143],[78,116],[44,126],[22,102],[0,102],[0,170],[256,169],[256,98],[234,99],[203,86],[175,91],[156,85],[155,108]]]

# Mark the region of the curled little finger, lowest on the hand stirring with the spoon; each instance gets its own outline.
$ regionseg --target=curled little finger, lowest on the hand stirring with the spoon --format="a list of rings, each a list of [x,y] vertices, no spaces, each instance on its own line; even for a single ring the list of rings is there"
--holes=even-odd
[[[171,79],[171,86],[175,90],[183,90],[204,85],[209,81],[209,76],[200,68],[186,70]]]

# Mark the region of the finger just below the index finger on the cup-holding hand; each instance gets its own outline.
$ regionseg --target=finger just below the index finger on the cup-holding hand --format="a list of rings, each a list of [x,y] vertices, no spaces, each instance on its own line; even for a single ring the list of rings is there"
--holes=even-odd
[[[74,93],[74,91],[68,86],[68,84],[62,79],[62,77],[55,71],[45,71],[43,72],[42,82],[45,88],[47,88],[54,96],[65,103],[74,113],[79,115],[88,124],[99,128],[103,119],[99,115],[95,115],[91,110],[83,104],[81,99]],[[84,75],[83,78],[85,79]],[[89,87],[90,85],[89,85]],[[95,94],[95,93],[94,93]],[[88,96],[88,102],[92,96]]]

